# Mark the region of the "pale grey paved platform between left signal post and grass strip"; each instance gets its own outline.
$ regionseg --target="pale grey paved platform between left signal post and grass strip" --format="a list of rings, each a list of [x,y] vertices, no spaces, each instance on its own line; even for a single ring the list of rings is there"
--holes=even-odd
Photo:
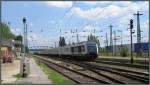
[[[15,82],[16,84],[52,84],[48,76],[35,63],[33,58],[30,58],[30,74],[27,78],[22,78]]]

